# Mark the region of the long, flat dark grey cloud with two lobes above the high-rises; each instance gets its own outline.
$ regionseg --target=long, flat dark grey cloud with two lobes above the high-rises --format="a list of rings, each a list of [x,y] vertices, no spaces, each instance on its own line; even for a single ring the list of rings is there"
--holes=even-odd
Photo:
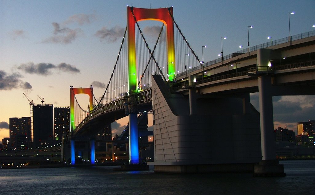
[[[66,63],[54,65],[51,63],[34,64],[33,62],[30,62],[27,64],[21,64],[20,66],[18,66],[18,69],[23,70],[24,72],[29,74],[37,74],[41,76],[51,75],[51,70],[59,70],[68,73],[80,73],[80,70],[77,69],[75,66]]]

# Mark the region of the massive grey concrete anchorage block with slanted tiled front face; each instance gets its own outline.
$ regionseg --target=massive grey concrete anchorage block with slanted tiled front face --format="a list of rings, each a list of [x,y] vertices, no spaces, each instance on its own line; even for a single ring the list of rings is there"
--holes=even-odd
[[[170,93],[152,75],[154,162],[148,164],[166,173],[253,173],[261,138],[259,113],[246,108],[249,94],[206,97],[191,90],[195,97]]]

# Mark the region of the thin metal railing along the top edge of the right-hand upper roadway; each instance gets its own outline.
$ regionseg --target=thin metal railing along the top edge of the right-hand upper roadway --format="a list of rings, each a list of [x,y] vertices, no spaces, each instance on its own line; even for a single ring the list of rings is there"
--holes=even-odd
[[[298,35],[293,35],[293,36],[291,36],[291,41],[296,41],[296,40],[299,40],[299,39],[304,39],[304,38],[312,37],[312,36],[315,36],[315,31],[309,31],[309,32],[304,32],[304,33],[298,34]],[[263,43],[263,44],[260,44],[260,45],[256,45],[256,46],[253,46],[253,47],[249,47],[249,51],[252,52],[252,51],[256,51],[258,49],[267,48],[267,47],[279,45],[279,44],[286,43],[286,42],[290,42],[289,36],[288,37],[284,37],[282,39],[277,39],[277,40],[274,40],[274,41],[271,41],[271,42],[266,42],[266,43]],[[240,50],[240,51],[237,51],[235,53],[231,53],[231,54],[226,55],[226,56],[223,56],[223,60],[227,60],[227,59],[233,58],[233,57],[241,55],[243,53],[248,53],[248,48]],[[207,67],[207,66],[211,66],[211,65],[214,65],[214,64],[218,64],[220,62],[222,62],[222,57],[221,58],[217,58],[217,59],[212,60],[212,61],[209,61],[209,62],[206,62],[206,63],[203,64],[203,66]],[[191,73],[193,71],[200,70],[200,69],[202,69],[202,65],[193,67],[191,69],[188,69],[187,72],[186,71],[181,72],[181,73],[177,74],[177,77],[184,76],[184,75],[186,75],[188,73]]]

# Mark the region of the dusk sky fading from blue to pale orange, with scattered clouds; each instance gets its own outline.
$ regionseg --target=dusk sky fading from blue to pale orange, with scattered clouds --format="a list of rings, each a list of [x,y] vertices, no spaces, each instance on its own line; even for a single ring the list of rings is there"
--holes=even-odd
[[[264,1],[75,1],[0,0],[0,142],[9,137],[9,118],[30,116],[29,101],[70,105],[70,86],[93,84],[95,97],[104,93],[127,25],[126,6],[173,6],[174,18],[204,61],[218,58],[239,45],[315,30],[314,0]],[[295,12],[289,16],[289,12]],[[252,25],[253,28],[248,29]],[[249,31],[248,31],[249,30]],[[258,94],[251,95],[258,108]],[[314,96],[273,97],[274,128],[297,132],[297,123],[315,120]],[[125,119],[112,124],[120,134]],[[151,126],[150,122],[149,126]]]

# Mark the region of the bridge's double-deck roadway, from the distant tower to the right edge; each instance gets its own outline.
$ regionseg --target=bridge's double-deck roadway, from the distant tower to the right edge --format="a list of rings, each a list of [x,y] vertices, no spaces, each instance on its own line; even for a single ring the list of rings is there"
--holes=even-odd
[[[173,91],[188,95],[185,86],[193,85],[201,96],[230,97],[258,92],[260,74],[273,77],[273,85],[281,86],[277,95],[299,95],[301,86],[315,86],[315,36],[266,47],[272,50],[271,67],[257,67],[257,52],[230,55],[231,58],[215,64],[205,63],[177,75]],[[262,70],[264,68],[265,70]],[[195,75],[196,82],[188,82]],[[288,88],[296,90],[288,90]],[[283,90],[281,90],[283,89]],[[312,90],[309,94],[314,95]],[[288,93],[289,92],[289,93]],[[138,94],[139,111],[152,110],[152,91],[148,88]],[[74,137],[94,136],[102,126],[127,116],[124,98],[96,108],[73,131]]]

